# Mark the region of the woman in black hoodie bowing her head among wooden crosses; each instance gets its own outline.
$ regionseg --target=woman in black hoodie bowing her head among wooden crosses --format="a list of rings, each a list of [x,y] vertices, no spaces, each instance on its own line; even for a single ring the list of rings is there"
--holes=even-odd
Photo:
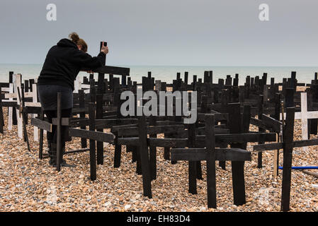
[[[45,58],[45,62],[38,78],[38,94],[47,119],[57,117],[57,93],[62,93],[62,117],[72,116],[74,81],[82,67],[96,69],[103,66],[108,47],[102,44],[97,57],[91,57],[87,52],[87,44],[75,32],[69,39],[59,40]],[[63,128],[64,127],[64,128]],[[52,126],[52,133],[47,133],[48,153],[50,165],[56,166],[57,129]],[[71,167],[63,160],[65,141],[70,141],[67,128],[62,126],[62,155],[61,165]]]

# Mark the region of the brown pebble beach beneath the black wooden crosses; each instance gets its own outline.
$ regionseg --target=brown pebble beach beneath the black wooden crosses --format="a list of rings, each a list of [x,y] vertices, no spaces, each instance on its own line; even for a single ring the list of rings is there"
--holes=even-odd
[[[4,119],[7,109],[4,108]],[[38,158],[39,143],[33,141],[33,126],[28,125],[31,152],[18,138],[16,126],[0,133],[0,211],[280,211],[282,170],[273,177],[273,151],[263,153],[263,168],[257,168],[257,153],[245,163],[246,204],[234,206],[231,162],[226,170],[216,162],[217,209],[208,208],[206,165],[198,194],[188,193],[188,162],[171,165],[164,160],[164,149],[157,148],[157,179],[152,182],[152,198],[142,196],[142,176],[136,173],[132,153],[122,150],[120,168],[113,167],[113,145],[104,145],[104,164],[97,166],[97,179],[89,179],[89,152],[73,153],[64,158],[74,168],[57,172],[48,159]],[[256,127],[251,126],[251,131]],[[317,138],[317,136],[311,136]],[[301,139],[300,121],[295,121],[294,140]],[[247,150],[252,150],[248,143]],[[79,138],[67,143],[66,150],[81,148]],[[45,148],[46,149],[46,138]],[[306,151],[294,148],[293,165],[317,165],[317,146]],[[280,150],[280,165],[283,150]],[[317,172],[317,170],[316,170]],[[318,178],[293,170],[290,211],[318,211]]]

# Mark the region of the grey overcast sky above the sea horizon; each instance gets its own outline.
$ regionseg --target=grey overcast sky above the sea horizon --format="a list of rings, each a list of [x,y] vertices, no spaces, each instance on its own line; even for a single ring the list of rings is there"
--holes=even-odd
[[[75,31],[91,55],[108,42],[108,65],[318,66],[317,11],[317,0],[1,0],[0,63],[42,64]]]

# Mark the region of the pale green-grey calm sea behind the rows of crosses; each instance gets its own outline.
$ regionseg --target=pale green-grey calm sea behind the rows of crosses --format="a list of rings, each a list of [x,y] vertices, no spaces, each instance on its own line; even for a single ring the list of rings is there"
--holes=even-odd
[[[176,73],[181,72],[183,78],[184,71],[189,72],[189,83],[192,76],[197,75],[203,78],[204,71],[213,71],[213,82],[217,83],[218,78],[225,78],[227,75],[235,76],[239,73],[239,84],[243,85],[246,76],[262,76],[263,72],[268,73],[269,78],[275,78],[280,82],[283,78],[290,77],[291,71],[297,71],[297,80],[300,83],[310,83],[314,79],[314,72],[318,71],[317,67],[293,67],[293,66],[124,66],[130,68],[130,76],[133,81],[141,82],[142,76],[147,76],[148,71],[152,71],[155,79],[171,83],[176,78]],[[38,78],[42,69],[41,64],[0,64],[0,82],[8,82],[8,72],[21,73],[23,79]],[[89,76],[88,73],[80,72],[79,78]],[[97,79],[97,74],[95,74]],[[107,78],[107,77],[106,77]]]

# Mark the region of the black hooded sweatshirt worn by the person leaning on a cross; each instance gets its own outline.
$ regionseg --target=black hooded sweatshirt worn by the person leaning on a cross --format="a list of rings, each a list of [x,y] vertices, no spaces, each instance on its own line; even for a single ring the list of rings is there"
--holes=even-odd
[[[66,38],[52,47],[38,78],[38,85],[63,85],[74,90],[74,81],[82,67],[96,69],[103,66],[105,54],[100,52],[97,57],[79,50],[74,42]]]

